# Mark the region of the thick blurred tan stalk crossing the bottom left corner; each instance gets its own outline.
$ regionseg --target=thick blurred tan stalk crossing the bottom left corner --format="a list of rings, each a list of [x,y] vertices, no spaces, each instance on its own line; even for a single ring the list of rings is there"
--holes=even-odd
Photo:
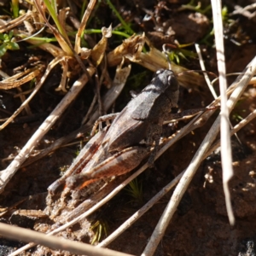
[[[45,247],[52,247],[57,250],[65,250],[75,254],[86,254],[93,256],[128,256],[131,254],[119,253],[112,250],[96,248],[88,244],[78,241],[69,241],[67,239],[46,236],[42,233],[26,230],[19,227],[11,226],[9,224],[0,224],[1,236],[8,237],[9,239],[21,241],[35,241]],[[11,254],[10,254],[11,255]]]

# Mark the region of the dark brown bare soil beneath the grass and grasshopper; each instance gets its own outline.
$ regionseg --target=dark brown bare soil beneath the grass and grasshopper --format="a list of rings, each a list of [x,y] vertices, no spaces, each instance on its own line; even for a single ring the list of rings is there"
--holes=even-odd
[[[133,30],[146,32],[148,38],[156,47],[160,48],[162,44],[173,42],[174,39],[177,39],[180,44],[201,42],[207,70],[216,73],[217,64],[215,48],[212,47],[213,38],[209,38],[207,44],[201,41],[207,32],[211,31],[212,25],[209,20],[211,15],[209,13],[207,15],[197,15],[189,10],[177,12],[177,9],[181,6],[180,2],[183,1],[168,1],[168,3],[154,3],[154,1],[119,3],[118,1],[113,1],[113,4],[124,19],[131,21]],[[242,1],[242,3],[236,4],[241,4],[242,6],[250,4],[250,1],[246,2]],[[203,6],[207,5],[206,3],[202,4]],[[229,11],[232,12],[235,1],[227,1],[225,4],[227,4]],[[91,26],[108,26],[111,22],[113,22],[113,26],[116,26],[119,23],[111,10],[108,9],[106,11],[106,9],[108,9],[106,3],[102,3],[97,10],[97,15],[102,20],[92,21],[95,24],[91,24]],[[146,13],[152,15],[151,20],[143,20]],[[249,20],[243,15],[235,15],[232,16],[232,19],[236,20],[236,24],[225,28],[226,67],[228,73],[241,72],[256,54],[255,18]],[[101,25],[97,25],[96,22],[100,22]],[[98,38],[95,39],[98,41]],[[114,40],[114,37],[110,39],[109,49],[114,48]],[[241,45],[234,44],[234,40]],[[22,43],[20,46],[19,51],[9,51],[3,57],[2,65],[5,72],[11,73],[14,67],[26,63],[25,54],[36,55],[42,61],[49,61],[50,56],[45,55],[44,52],[26,49],[26,43]],[[192,50],[193,47],[190,49]],[[182,65],[191,69],[200,69],[198,61],[194,59],[189,59],[189,61],[182,60]],[[142,71],[143,68],[138,67],[138,70]],[[0,132],[2,169],[8,166],[10,162],[5,159],[18,153],[19,148],[24,146],[45,117],[60,102],[62,96],[56,95],[51,87],[59,83],[61,79],[59,73],[60,70],[55,69],[47,83],[44,84],[44,90],[40,90],[32,100],[30,107],[33,113],[37,113],[35,119],[29,121],[24,121],[22,118],[17,119],[17,122]],[[147,83],[144,81],[141,88]],[[217,87],[216,89],[218,90]],[[10,91],[15,93],[15,90]],[[201,92],[193,89],[181,88],[180,108],[198,108],[202,104],[207,105],[212,102],[210,93],[206,92],[207,89],[204,91],[205,93],[202,95]],[[17,98],[13,98],[8,92],[2,90],[1,95],[3,96],[3,104],[9,113],[13,113],[20,106],[20,101]],[[38,148],[46,148],[48,142],[79,128],[84,113],[90,107],[92,96],[93,87],[89,84],[86,90],[82,91],[79,98],[68,108],[64,117],[44,137],[44,141],[40,142]],[[237,107],[230,115],[233,125],[236,125],[238,116],[246,117],[255,108],[255,96],[254,87],[249,86],[244,96],[242,96],[241,102],[237,104]],[[128,101],[125,93],[121,98],[125,98],[125,102]],[[117,103],[119,102],[121,100]],[[117,108],[121,107],[118,105]],[[8,113],[0,112],[0,119],[7,116]],[[160,160],[156,161],[155,170],[150,169],[138,177],[139,182],[143,185],[143,203],[131,201],[131,197],[125,191],[122,191],[107,206],[94,214],[96,219],[101,218],[108,223],[109,234],[189,165],[189,161],[206,136],[212,121],[213,119],[207,125],[184,137],[170,148]],[[183,122],[179,122],[176,128],[183,125]],[[256,242],[256,217],[254,215],[256,212],[256,176],[253,174],[253,172],[256,173],[255,125],[256,121],[252,121],[239,131],[238,137],[241,140],[241,144],[237,143],[235,137],[232,140],[235,175],[230,182],[230,191],[236,216],[236,225],[231,227],[227,218],[222,185],[221,160],[219,152],[215,152],[201,164],[155,255],[255,255],[253,250]],[[60,168],[72,162],[77,148],[77,146],[61,148],[31,166],[20,169],[9,182],[3,194],[0,195],[1,208],[14,207],[15,205],[16,207],[3,215],[0,221],[32,228],[35,219],[15,218],[11,213],[16,209],[44,210],[44,200],[48,186],[60,176]],[[207,173],[212,176],[212,183],[207,182],[205,178]],[[124,253],[140,255],[171,195],[172,192],[166,195],[160,203],[152,207],[136,224],[133,224],[116,241],[113,241],[109,248]],[[13,247],[20,246],[21,243],[2,239],[0,241],[0,255],[8,255]]]

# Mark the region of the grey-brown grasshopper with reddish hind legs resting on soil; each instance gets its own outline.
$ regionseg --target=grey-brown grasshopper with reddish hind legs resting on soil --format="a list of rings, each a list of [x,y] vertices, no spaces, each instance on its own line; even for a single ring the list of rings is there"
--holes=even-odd
[[[131,172],[154,145],[148,159],[152,166],[163,122],[175,115],[171,110],[177,107],[178,89],[171,70],[157,71],[151,83],[117,115],[108,131],[92,137],[64,177],[49,187],[49,192],[55,194],[61,183],[76,189],[103,177]]]

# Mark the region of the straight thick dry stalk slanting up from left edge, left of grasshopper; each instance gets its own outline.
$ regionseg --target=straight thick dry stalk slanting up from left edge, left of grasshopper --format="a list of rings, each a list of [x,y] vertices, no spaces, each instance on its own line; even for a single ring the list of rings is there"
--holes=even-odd
[[[88,68],[88,73],[90,76],[95,72],[95,69],[92,67]],[[67,95],[62,99],[55,110],[49,114],[49,117],[45,119],[44,123],[40,125],[38,131],[36,131],[31,139],[26,143],[26,145],[21,149],[20,154],[15,157],[15,160],[1,172],[1,182],[0,182],[0,192],[3,191],[4,187],[11,177],[15,175],[15,172],[20,168],[22,163],[27,159],[29,154],[31,154],[32,149],[36,146],[38,141],[44,137],[44,134],[49,131],[50,127],[55,124],[55,121],[60,117],[61,113],[67,108],[68,104],[73,101],[73,99],[79,94],[79,91],[82,90],[84,84],[87,83],[88,77],[84,74],[78,79],[74,84],[71,90],[68,91]]]

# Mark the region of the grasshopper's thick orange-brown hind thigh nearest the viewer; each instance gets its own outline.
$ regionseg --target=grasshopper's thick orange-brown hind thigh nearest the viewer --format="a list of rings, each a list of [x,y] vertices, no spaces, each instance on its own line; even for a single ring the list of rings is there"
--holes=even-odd
[[[103,177],[112,177],[131,172],[147,156],[148,148],[143,146],[125,148],[89,171],[73,175],[66,180],[67,187],[78,189]]]

